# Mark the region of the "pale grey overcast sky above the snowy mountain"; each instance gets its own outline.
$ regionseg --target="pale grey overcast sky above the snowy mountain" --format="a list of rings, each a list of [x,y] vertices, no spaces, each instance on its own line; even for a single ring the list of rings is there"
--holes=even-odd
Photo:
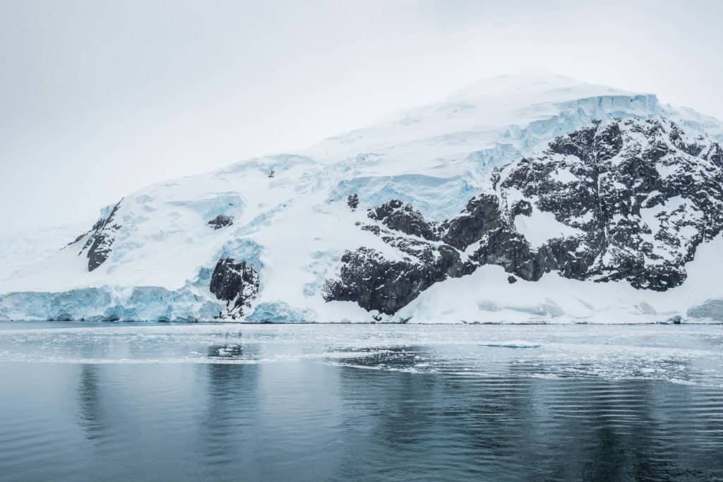
[[[0,0],[0,234],[521,69],[723,119],[722,18],[716,0]]]

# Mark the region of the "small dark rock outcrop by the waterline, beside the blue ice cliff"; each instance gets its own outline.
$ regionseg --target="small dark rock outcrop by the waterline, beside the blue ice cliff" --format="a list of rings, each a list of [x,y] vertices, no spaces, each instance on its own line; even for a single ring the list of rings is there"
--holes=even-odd
[[[246,262],[221,258],[211,275],[210,291],[217,299],[226,301],[226,313],[219,313],[219,317],[236,319],[244,315],[244,309],[251,308],[257,297],[259,275]]]

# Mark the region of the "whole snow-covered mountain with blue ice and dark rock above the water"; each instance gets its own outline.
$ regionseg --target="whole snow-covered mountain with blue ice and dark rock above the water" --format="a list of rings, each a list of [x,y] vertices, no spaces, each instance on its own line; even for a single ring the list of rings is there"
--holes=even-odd
[[[0,319],[722,319],[722,140],[656,95],[488,79],[130,194],[0,280]]]

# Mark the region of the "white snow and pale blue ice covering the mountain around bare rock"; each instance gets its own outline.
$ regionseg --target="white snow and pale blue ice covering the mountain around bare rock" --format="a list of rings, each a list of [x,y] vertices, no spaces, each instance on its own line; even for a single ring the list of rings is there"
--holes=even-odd
[[[91,229],[49,257],[14,262],[12,274],[0,280],[0,319],[213,320],[227,309],[228,300],[209,290],[223,258],[259,273],[252,309],[234,313],[249,322],[654,322],[690,310],[710,317],[711,310],[695,310],[723,298],[709,283],[719,263],[711,248],[718,239],[701,246],[688,281],[665,293],[555,274],[510,285],[502,268],[487,266],[437,283],[395,315],[322,298],[349,247],[403,257],[355,225],[367,220],[367,208],[401,199],[430,220],[451,218],[491,189],[495,166],[594,119],[661,115],[692,132],[723,132],[715,119],[662,106],[648,93],[559,76],[487,79],[445,102],[304,152],[254,158],[129,194],[116,210],[104,208],[101,220],[108,222],[100,231]],[[354,210],[347,205],[351,194],[359,199]],[[232,224],[208,225],[219,215]],[[520,231],[539,237],[536,243],[557,229],[544,215],[521,223]],[[96,256],[105,259],[91,269]]]

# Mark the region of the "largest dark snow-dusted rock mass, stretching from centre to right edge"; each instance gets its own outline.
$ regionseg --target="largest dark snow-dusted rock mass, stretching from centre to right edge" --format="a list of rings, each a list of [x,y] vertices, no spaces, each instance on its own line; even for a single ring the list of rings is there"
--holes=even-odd
[[[429,222],[398,200],[369,210],[375,223],[361,229],[401,261],[347,251],[325,298],[393,314],[430,285],[484,264],[504,267],[509,283],[555,271],[665,291],[685,281],[698,244],[722,231],[722,181],[723,150],[706,137],[666,119],[596,121],[497,169],[494,191],[452,220]],[[545,241],[533,245],[540,231]]]

